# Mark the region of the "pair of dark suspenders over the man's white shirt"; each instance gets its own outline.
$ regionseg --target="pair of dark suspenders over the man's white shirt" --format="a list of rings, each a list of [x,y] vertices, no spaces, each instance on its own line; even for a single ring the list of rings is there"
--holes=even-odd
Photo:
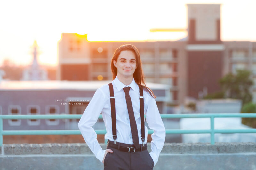
[[[114,143],[116,144],[116,106],[115,106],[115,97],[113,85],[110,82],[108,84],[110,92],[110,105],[111,105],[111,120],[112,120],[112,134]],[[140,88],[140,122],[141,122],[141,140],[144,146],[145,142],[145,126],[144,126],[144,98],[143,98],[143,89]]]

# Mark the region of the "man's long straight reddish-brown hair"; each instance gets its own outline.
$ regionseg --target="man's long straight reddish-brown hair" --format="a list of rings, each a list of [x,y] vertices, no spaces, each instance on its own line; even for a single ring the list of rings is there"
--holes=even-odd
[[[125,51],[125,50],[132,51],[135,55],[135,58],[136,58],[137,68],[135,69],[135,71],[133,73],[133,78],[134,78],[135,82],[139,85],[140,88],[142,88],[143,90],[146,90],[153,98],[156,98],[153,91],[150,88],[146,87],[145,79],[144,79],[145,75],[144,75],[144,72],[142,70],[142,63],[141,63],[141,60],[140,60],[139,50],[131,44],[121,45],[114,52],[114,55],[113,55],[112,60],[111,60],[111,70],[112,70],[112,74],[113,74],[113,80],[117,76],[117,68],[114,66],[113,61],[115,60],[117,62],[117,58],[120,55],[121,51]]]

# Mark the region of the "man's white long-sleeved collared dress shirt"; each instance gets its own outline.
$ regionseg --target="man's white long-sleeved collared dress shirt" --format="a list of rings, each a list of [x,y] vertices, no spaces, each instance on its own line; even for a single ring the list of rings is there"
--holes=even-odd
[[[140,91],[139,86],[134,81],[126,86],[117,76],[112,81],[115,96],[115,106],[116,106],[116,134],[117,142],[122,142],[126,144],[133,144],[132,141],[132,131],[130,127],[129,114],[127,109],[127,104],[125,100],[124,87],[131,87],[129,94],[132,100],[132,107],[134,112],[134,117],[137,124],[139,143],[141,141],[141,122],[140,122]],[[156,105],[156,100],[145,90],[143,90],[144,96],[144,114],[146,115],[146,121],[150,129],[154,130],[151,135],[151,152],[149,153],[152,157],[154,164],[158,161],[159,154],[164,146],[165,141],[165,127],[161,119],[159,110]],[[111,107],[110,107],[110,95],[108,84],[101,86],[94,93],[92,100],[86,107],[79,123],[78,128],[84,137],[85,142],[94,153],[97,159],[101,162],[103,161],[105,151],[98,143],[97,134],[92,128],[92,126],[97,122],[100,113],[102,113],[102,118],[105,122],[106,131],[105,139],[114,141],[112,136],[112,121],[111,121]],[[147,142],[148,128],[145,126],[145,143]]]

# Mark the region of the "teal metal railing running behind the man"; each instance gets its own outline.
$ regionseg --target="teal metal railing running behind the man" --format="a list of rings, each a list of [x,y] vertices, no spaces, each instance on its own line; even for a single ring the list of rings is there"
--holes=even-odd
[[[3,119],[80,119],[79,115],[0,115],[0,146],[3,145],[3,135],[79,135],[80,130],[3,130]],[[209,133],[211,134],[211,144],[215,143],[215,133],[256,133],[256,129],[214,129],[214,118],[222,117],[246,117],[256,118],[256,113],[226,113],[226,114],[161,114],[161,118],[210,118],[211,128],[205,130],[183,130],[183,129],[166,129],[166,134],[195,134]],[[145,116],[146,118],[146,116]],[[99,116],[102,119],[102,115]],[[105,130],[95,130],[97,134],[106,134]],[[154,133],[148,130],[148,134]],[[107,140],[105,141],[105,143]]]

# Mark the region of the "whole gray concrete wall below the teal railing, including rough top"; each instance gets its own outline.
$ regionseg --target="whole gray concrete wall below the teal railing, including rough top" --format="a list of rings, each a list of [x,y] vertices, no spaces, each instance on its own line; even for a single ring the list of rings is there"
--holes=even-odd
[[[0,153],[1,170],[104,168],[85,143],[3,144]],[[165,143],[157,169],[256,170],[256,143]]]

